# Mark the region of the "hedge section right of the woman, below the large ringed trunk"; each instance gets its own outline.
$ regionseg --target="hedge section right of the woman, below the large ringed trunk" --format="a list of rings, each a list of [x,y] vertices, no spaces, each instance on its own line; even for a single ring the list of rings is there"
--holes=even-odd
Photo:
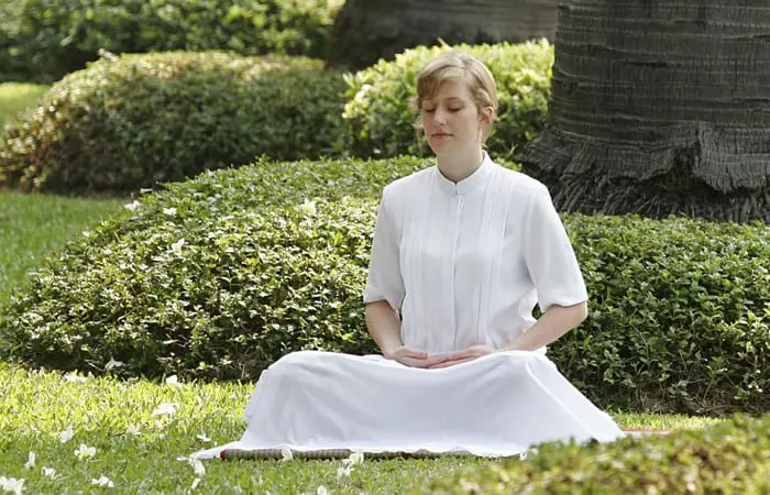
[[[562,218],[592,299],[551,349],[575,386],[619,408],[768,410],[770,228]]]

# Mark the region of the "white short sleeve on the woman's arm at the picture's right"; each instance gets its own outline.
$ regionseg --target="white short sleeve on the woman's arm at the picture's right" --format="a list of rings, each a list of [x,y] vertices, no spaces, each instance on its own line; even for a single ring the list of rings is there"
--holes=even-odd
[[[543,314],[552,305],[573,306],[588,299],[572,244],[544,186],[529,198],[522,243]]]

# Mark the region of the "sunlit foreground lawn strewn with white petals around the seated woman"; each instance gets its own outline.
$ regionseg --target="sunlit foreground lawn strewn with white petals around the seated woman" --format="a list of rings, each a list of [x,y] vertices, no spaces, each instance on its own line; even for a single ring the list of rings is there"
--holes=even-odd
[[[196,477],[185,457],[207,446],[240,438],[240,417],[253,384],[183,384],[111,377],[69,382],[56,372],[26,372],[0,364],[0,476],[24,479],[25,493],[101,493],[91,480],[107,476],[121,493],[188,493]],[[176,413],[153,417],[163,403]],[[695,429],[715,419],[680,416],[613,415],[628,428]],[[129,432],[130,425],[140,433]],[[62,443],[59,432],[75,436]],[[211,442],[197,438],[206,435]],[[80,443],[97,449],[79,460]],[[24,470],[29,452],[35,466]],[[450,475],[462,465],[499,462],[483,459],[365,461],[339,482],[341,461],[206,461],[196,493],[405,493]],[[42,468],[61,476],[51,480]],[[262,481],[262,482],[260,482]]]

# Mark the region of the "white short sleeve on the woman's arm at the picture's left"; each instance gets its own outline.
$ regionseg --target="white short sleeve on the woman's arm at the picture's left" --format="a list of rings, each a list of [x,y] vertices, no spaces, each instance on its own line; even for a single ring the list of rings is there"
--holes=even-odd
[[[364,302],[387,300],[392,308],[398,309],[405,295],[399,261],[399,233],[386,198],[387,195],[383,194],[377,208]]]

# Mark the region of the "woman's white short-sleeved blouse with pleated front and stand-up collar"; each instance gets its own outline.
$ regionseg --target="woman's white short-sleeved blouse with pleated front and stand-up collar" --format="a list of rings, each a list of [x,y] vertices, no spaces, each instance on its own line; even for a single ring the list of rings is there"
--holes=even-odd
[[[498,349],[535,323],[536,302],[546,312],[586,299],[572,245],[538,180],[485,153],[457,184],[432,166],[383,190],[364,302],[400,309],[404,345]]]

